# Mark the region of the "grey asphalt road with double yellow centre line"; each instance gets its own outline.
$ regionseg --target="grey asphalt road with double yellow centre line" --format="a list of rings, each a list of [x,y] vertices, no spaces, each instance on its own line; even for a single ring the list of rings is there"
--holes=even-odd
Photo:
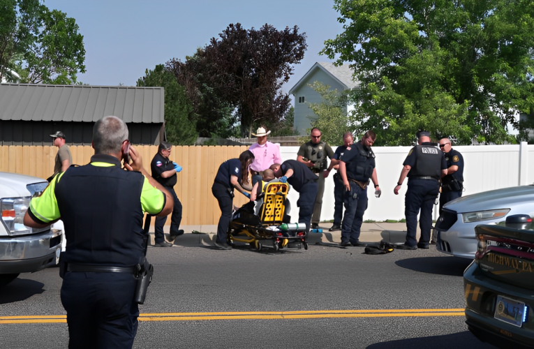
[[[156,274],[134,347],[492,348],[463,322],[468,260],[433,249],[362,252],[149,248]],[[1,289],[0,317],[64,315],[57,274],[23,274]],[[64,317],[51,321],[0,324],[2,347],[65,348]]]

